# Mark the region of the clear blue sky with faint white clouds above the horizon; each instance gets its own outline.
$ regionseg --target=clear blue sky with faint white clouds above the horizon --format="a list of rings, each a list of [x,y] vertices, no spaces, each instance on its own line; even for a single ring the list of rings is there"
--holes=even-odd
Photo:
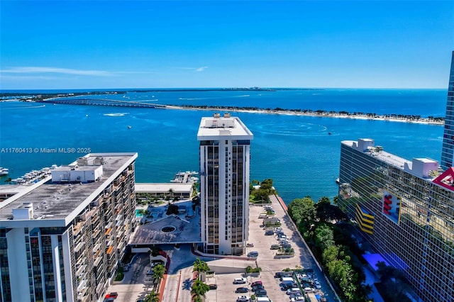
[[[454,1],[0,0],[0,89],[442,88]]]

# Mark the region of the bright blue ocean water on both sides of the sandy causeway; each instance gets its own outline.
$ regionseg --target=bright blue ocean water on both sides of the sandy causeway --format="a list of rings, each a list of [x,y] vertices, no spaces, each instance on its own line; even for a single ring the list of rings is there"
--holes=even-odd
[[[45,91],[37,91],[43,93]],[[93,98],[194,106],[300,108],[378,114],[444,116],[443,89],[317,89],[279,91],[143,91]],[[90,152],[138,152],[136,181],[167,182],[198,170],[200,119],[214,111],[116,108],[0,102],[0,166],[9,177],[68,164]],[[251,179],[272,178],[284,201],[336,196],[342,140],[373,138],[411,160],[440,160],[443,126],[351,118],[232,113],[254,134]],[[331,133],[331,135],[328,135]],[[27,148],[33,152],[9,152]],[[34,150],[38,148],[38,152]],[[42,152],[74,148],[75,152]],[[3,183],[5,177],[0,179]]]

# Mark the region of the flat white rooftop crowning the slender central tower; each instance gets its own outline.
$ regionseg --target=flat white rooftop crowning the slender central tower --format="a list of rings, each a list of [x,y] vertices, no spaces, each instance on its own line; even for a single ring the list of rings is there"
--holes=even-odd
[[[253,133],[236,116],[215,113],[212,117],[201,118],[197,140],[252,140]]]

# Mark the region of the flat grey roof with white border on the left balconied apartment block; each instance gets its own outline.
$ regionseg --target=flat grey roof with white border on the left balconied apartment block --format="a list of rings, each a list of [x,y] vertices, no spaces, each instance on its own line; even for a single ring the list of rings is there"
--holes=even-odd
[[[46,177],[29,189],[2,201],[0,224],[7,226],[9,223],[22,221],[24,225],[28,225],[27,223],[39,220],[43,226],[64,226],[66,225],[64,223],[74,219],[72,216],[77,215],[102,193],[135,158],[137,158],[135,152],[91,153],[79,157],[77,161],[67,166],[58,167],[55,173],[52,172],[52,177]],[[84,174],[91,172],[92,175],[84,177]],[[59,181],[55,181],[54,174],[57,174]],[[62,179],[61,175],[67,178]],[[28,211],[28,208],[32,211],[23,212]],[[13,215],[13,211],[19,214]],[[20,213],[21,211],[23,213]]]

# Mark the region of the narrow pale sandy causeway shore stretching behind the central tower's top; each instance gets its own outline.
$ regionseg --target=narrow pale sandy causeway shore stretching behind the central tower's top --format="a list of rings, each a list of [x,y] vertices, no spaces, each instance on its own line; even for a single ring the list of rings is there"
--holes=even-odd
[[[312,116],[319,118],[351,118],[357,120],[370,120],[370,121],[389,121],[399,123],[419,123],[429,125],[444,125],[445,121],[437,121],[430,118],[402,118],[397,116],[367,116],[366,114],[343,114],[343,113],[317,113],[317,112],[301,112],[301,111],[279,111],[279,110],[250,110],[242,108],[224,108],[224,107],[185,107],[185,106],[172,106],[164,105],[164,108],[177,109],[177,110],[194,110],[194,111],[226,111],[226,112],[244,112],[244,113],[259,113],[259,114],[281,114],[284,116]]]

